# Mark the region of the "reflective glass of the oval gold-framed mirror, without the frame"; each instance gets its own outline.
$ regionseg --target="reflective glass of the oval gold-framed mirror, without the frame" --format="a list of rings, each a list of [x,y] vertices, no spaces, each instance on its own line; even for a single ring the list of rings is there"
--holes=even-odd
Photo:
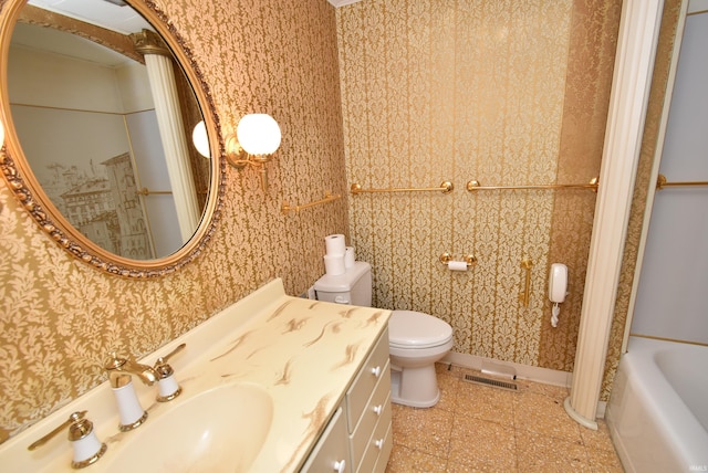
[[[25,7],[21,20],[38,17],[33,10]],[[59,28],[71,22],[96,34],[88,23],[42,13]],[[134,29],[152,28],[139,20],[133,21]],[[165,55],[169,51],[155,51],[139,54],[138,49],[132,55],[145,62],[163,57],[171,72],[171,59]],[[176,90],[173,77],[166,81],[171,83],[156,84],[158,93]],[[174,103],[170,97],[155,97],[148,69],[140,62],[79,35],[25,22],[18,23],[12,34],[8,90],[30,167],[77,231],[104,250],[134,260],[168,255],[191,238],[204,199],[199,207],[184,126],[180,136],[169,136],[169,116],[166,125],[160,124],[156,108],[156,98],[166,101],[169,108],[164,113],[179,114],[179,125],[181,108],[189,111],[196,104],[190,90],[181,94],[188,97],[181,107],[177,96]],[[178,162],[176,170],[168,169],[166,149],[184,166]],[[204,159],[194,161],[208,169]],[[202,183],[201,189],[206,187]]]

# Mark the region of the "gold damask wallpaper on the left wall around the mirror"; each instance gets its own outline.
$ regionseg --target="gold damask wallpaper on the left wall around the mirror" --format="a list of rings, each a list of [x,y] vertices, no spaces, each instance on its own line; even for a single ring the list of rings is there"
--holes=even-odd
[[[301,294],[324,271],[324,236],[347,233],[346,197],[298,216],[280,211],[283,200],[346,196],[332,6],[156,3],[202,71],[223,136],[246,113],[279,122],[270,189],[262,193],[256,172],[229,169],[206,251],[177,274],[129,281],[72,260],[0,185],[0,441],[104,381],[111,349],[140,357],[275,276]]]

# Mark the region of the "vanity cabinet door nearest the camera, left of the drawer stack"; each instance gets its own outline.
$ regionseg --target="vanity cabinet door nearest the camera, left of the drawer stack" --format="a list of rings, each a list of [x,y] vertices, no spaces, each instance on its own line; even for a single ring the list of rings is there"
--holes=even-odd
[[[340,407],[301,470],[312,473],[351,472],[348,434]]]

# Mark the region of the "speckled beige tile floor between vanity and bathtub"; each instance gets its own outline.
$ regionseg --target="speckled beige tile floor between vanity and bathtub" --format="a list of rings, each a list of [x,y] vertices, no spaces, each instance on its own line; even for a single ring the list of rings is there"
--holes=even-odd
[[[469,369],[437,365],[440,401],[393,404],[386,473],[618,472],[603,421],[592,431],[563,409],[569,390],[517,380],[518,392],[464,381]]]

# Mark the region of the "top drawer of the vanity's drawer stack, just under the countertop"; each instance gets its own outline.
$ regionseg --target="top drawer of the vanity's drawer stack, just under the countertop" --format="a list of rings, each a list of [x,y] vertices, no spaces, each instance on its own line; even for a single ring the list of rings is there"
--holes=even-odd
[[[384,376],[386,364],[388,362],[388,329],[384,330],[378,338],[376,346],[364,362],[364,366],[356,375],[356,379],[346,391],[346,417],[350,433],[358,423],[358,419],[364,412],[372,391],[378,380]]]

